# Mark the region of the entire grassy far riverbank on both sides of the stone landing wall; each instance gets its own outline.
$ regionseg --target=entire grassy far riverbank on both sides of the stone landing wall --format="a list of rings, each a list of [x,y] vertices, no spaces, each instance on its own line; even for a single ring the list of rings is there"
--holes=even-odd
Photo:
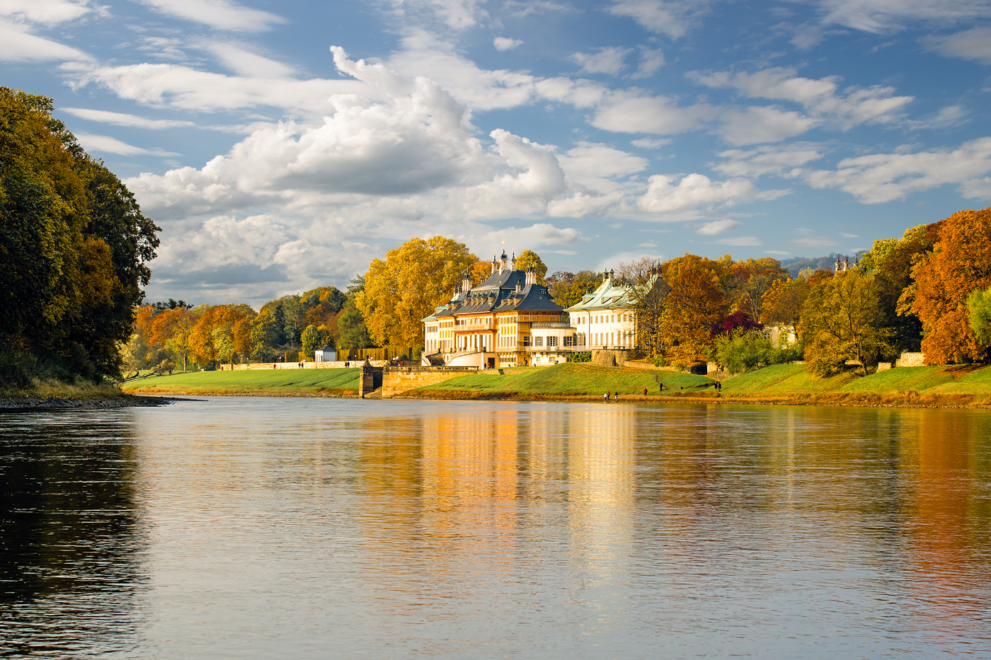
[[[358,369],[246,370],[145,376],[126,392],[156,395],[354,397]],[[663,385],[663,388],[662,388]],[[566,363],[459,376],[403,392],[399,398],[443,400],[602,400],[866,406],[991,404],[991,367],[903,367],[861,377],[846,372],[820,379],[803,365],[773,365],[721,382],[672,371]],[[644,394],[644,389],[647,393]],[[611,398],[611,396],[610,396]]]

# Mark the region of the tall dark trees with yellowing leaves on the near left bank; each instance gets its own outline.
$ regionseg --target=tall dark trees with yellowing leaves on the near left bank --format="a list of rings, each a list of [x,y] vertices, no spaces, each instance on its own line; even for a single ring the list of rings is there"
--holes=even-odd
[[[120,375],[159,228],[46,96],[0,87],[0,385]]]

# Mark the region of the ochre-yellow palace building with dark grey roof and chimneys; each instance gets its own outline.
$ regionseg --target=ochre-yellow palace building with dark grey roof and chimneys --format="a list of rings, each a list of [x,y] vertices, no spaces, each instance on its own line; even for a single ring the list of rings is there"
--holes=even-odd
[[[502,253],[492,275],[473,287],[462,280],[447,303],[423,319],[424,365],[495,369],[554,365],[574,350],[576,330],[532,270],[516,270]]]

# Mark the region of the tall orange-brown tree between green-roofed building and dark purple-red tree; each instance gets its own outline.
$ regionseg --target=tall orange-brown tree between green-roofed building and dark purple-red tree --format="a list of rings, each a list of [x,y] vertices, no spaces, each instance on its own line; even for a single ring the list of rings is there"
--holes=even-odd
[[[664,265],[671,291],[665,298],[660,331],[672,363],[687,366],[707,358],[711,329],[724,309],[719,273],[718,264],[695,255]]]

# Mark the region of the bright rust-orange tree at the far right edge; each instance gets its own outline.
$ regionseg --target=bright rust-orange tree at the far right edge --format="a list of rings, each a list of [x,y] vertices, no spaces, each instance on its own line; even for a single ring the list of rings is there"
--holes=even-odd
[[[940,221],[933,251],[914,261],[900,305],[922,321],[926,363],[981,360],[986,349],[970,327],[967,296],[991,285],[991,207]]]

